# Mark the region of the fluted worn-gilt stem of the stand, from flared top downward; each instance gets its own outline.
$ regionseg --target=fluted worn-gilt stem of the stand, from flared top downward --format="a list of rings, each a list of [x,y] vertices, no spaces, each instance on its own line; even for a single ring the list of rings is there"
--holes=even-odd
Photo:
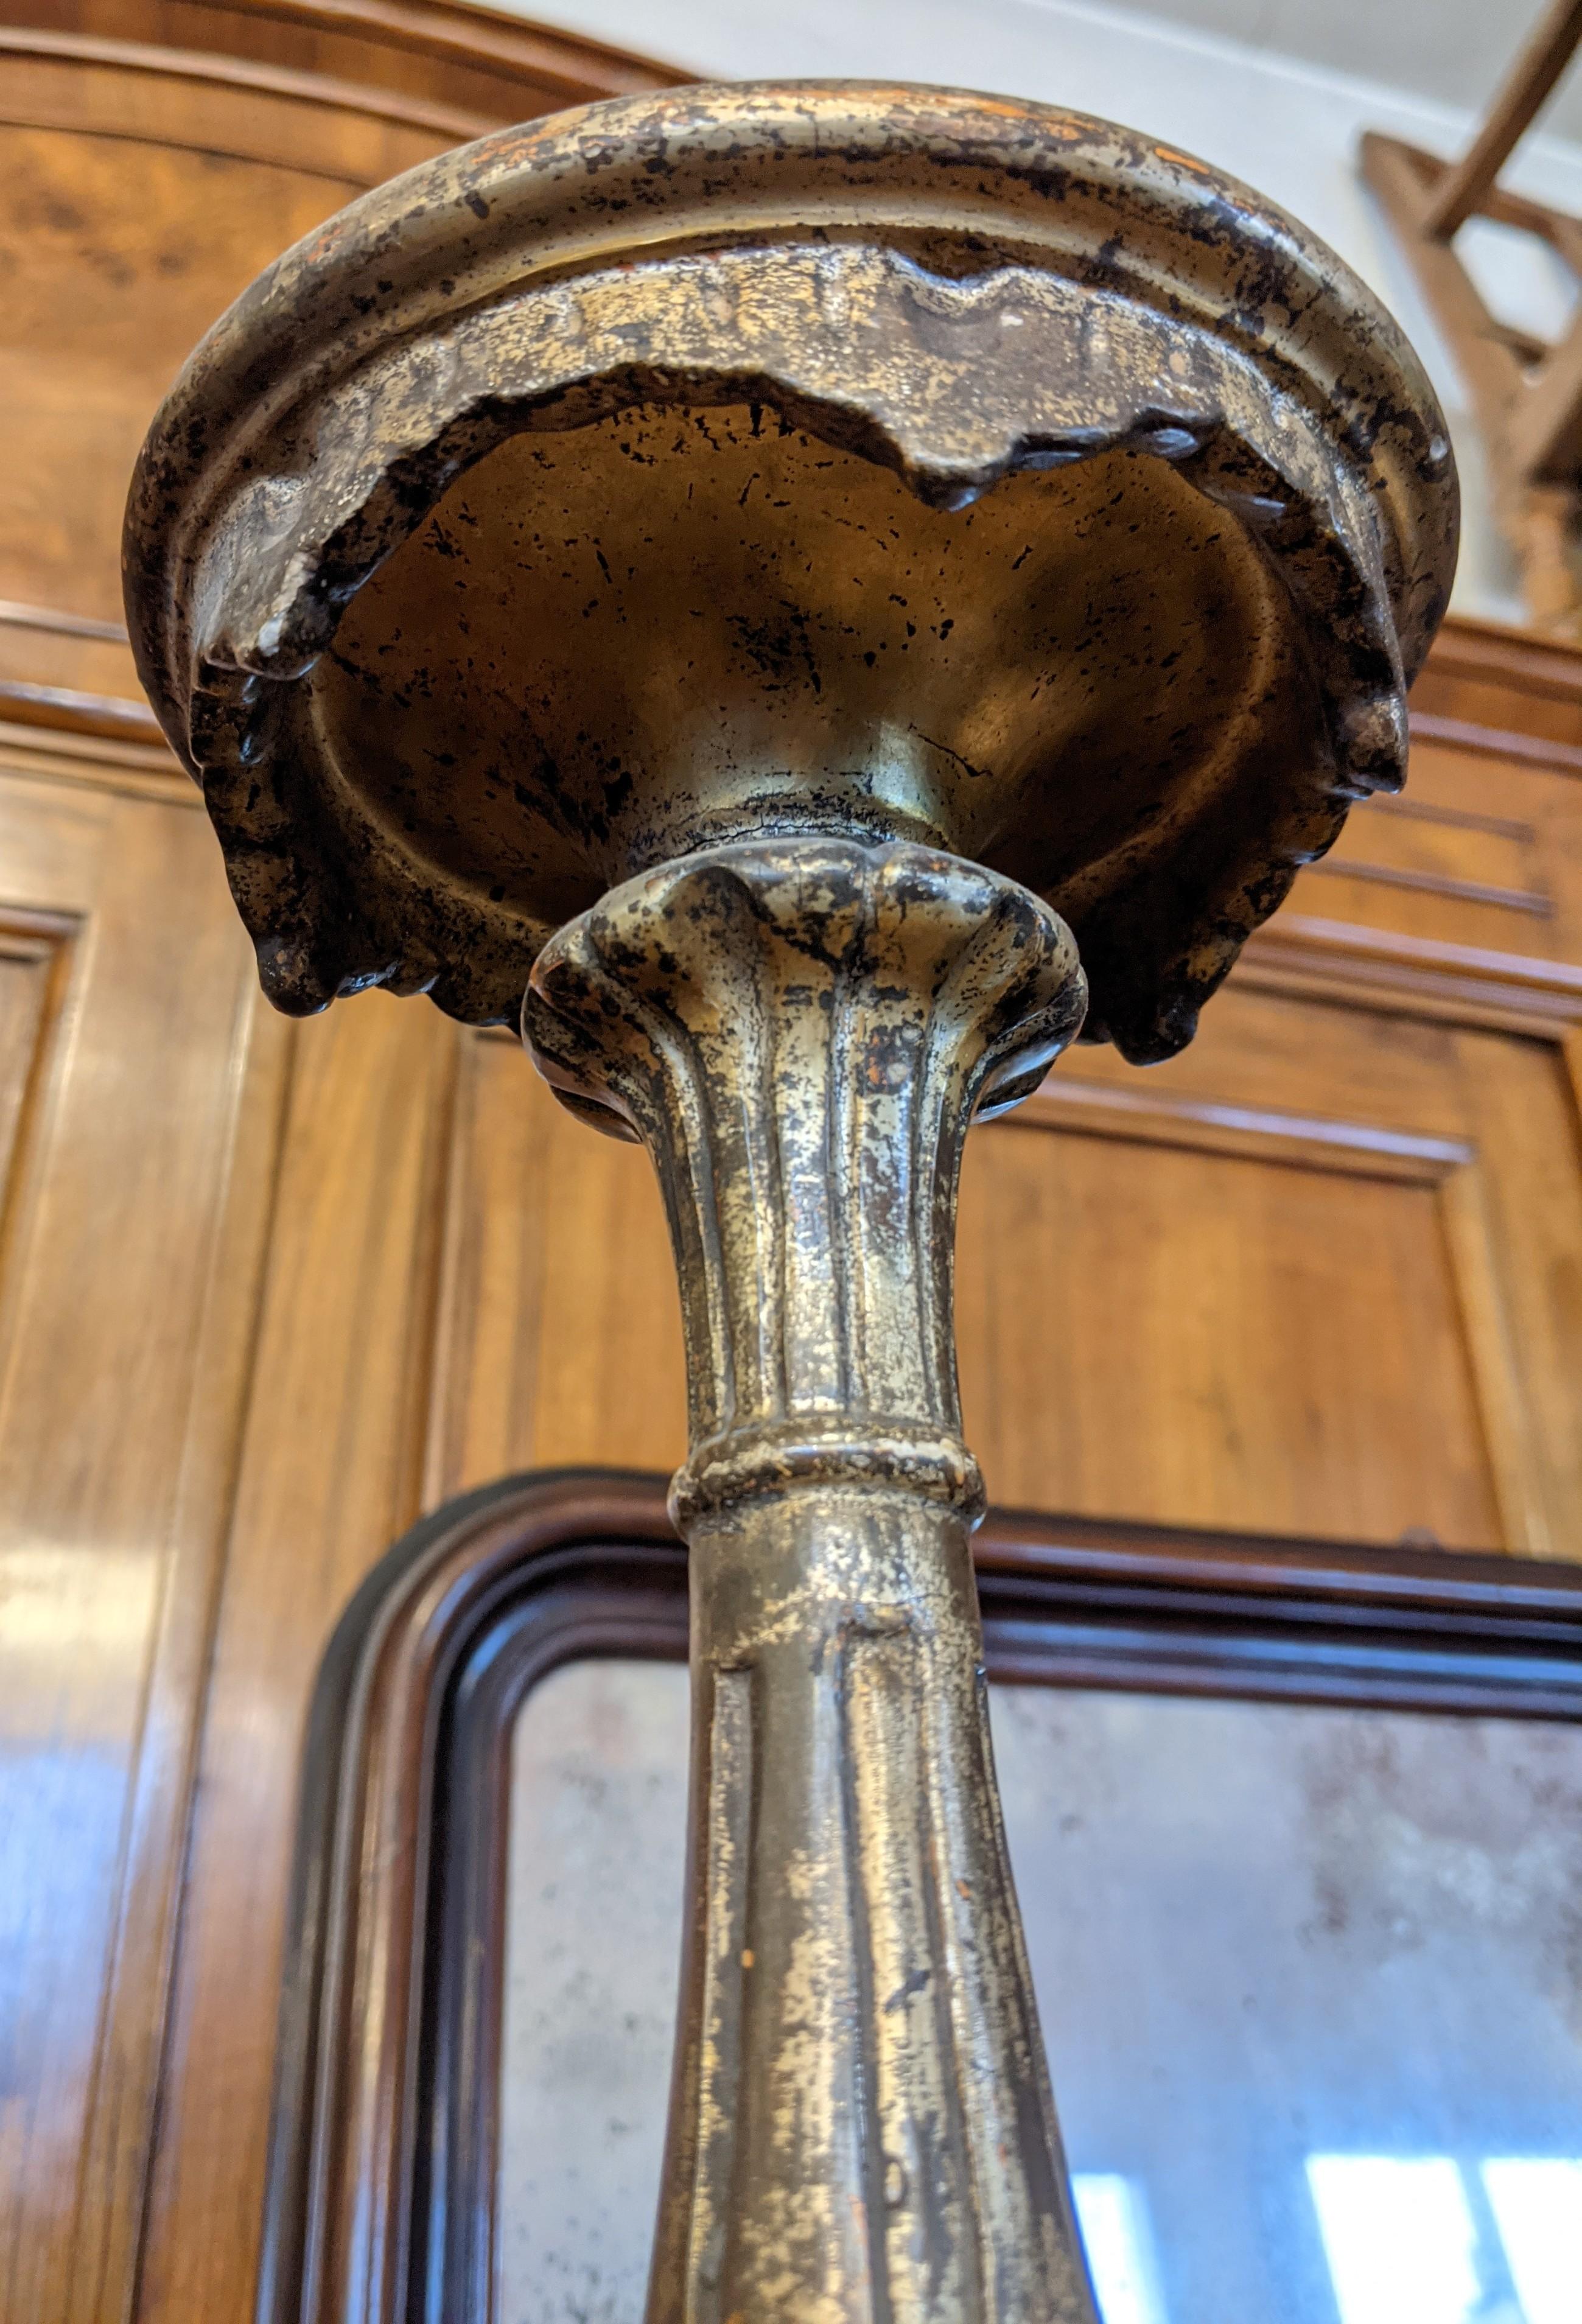
[[[650,2324],[1092,2317],[990,1755],[950,1274],[1069,932],[927,848],[760,839],[544,951],[541,1069],[655,1157],[692,1448],[692,1908]]]

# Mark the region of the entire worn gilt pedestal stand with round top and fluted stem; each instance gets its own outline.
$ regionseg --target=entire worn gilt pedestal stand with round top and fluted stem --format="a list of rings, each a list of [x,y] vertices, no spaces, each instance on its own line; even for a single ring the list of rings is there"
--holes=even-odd
[[[520,1006],[664,1190],[692,1866],[650,2324],[1094,2324],[985,1715],[962,1146],[1085,1009],[1180,1048],[1398,786],[1454,523],[1329,251],[941,91],[483,139],[290,251],[156,423],[128,609],[269,995]]]

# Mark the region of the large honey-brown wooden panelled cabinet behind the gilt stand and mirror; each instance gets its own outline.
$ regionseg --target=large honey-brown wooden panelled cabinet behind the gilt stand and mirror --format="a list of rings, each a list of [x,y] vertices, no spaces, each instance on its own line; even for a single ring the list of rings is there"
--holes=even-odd
[[[646,1157],[513,1041],[258,1002],[135,697],[121,479],[279,242],[648,67],[437,0],[102,0],[5,42],[35,435],[0,479],[0,2315],[242,2324],[323,1643],[444,1497],[671,1466],[681,1334]],[[973,1132],[997,1501],[1582,1552],[1582,662],[1454,625],[1415,713],[1405,799],[1192,1050],[1078,1048]]]

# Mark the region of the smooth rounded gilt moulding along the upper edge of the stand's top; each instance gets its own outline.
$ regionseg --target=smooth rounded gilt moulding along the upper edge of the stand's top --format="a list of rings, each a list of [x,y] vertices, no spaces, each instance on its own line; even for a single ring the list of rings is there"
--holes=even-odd
[[[1122,221],[1136,232],[1120,235]],[[170,579],[190,569],[218,479],[286,411],[376,349],[530,281],[699,242],[762,249],[808,225],[927,246],[936,263],[955,253],[976,272],[1027,260],[1282,367],[1380,472],[1403,574],[1431,572],[1431,595],[1447,593],[1454,467],[1426,374],[1352,270],[1275,205],[1194,156],[1057,107],[860,81],[695,84],[409,170],[307,235],[214,325],[149,432],[128,502],[132,634],[163,720],[165,686],[181,683],[160,653]],[[1438,607],[1401,611],[1410,674]]]

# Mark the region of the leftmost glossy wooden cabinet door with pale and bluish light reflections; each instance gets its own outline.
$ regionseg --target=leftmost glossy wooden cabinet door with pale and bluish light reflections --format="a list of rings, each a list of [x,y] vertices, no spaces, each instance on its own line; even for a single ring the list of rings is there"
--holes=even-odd
[[[0,2312],[53,2319],[135,2250],[283,1027],[174,786],[2,755]]]

